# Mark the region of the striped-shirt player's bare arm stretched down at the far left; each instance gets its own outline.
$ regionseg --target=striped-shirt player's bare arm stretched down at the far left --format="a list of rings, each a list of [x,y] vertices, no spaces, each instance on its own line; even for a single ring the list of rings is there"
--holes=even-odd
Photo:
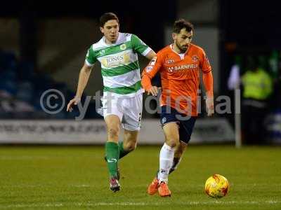
[[[87,52],[84,66],[81,68],[79,73],[79,79],[78,79],[78,85],[77,85],[75,97],[71,99],[70,102],[67,104],[67,111],[72,111],[72,106],[79,104],[79,102],[81,101],[82,94],[88,83],[91,70],[95,62],[96,62],[96,57],[94,56],[93,48],[91,47]]]

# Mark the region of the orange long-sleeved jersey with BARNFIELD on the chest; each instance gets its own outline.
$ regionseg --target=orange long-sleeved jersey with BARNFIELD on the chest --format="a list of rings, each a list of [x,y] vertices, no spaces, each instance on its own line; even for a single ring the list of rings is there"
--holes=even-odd
[[[181,113],[197,116],[200,70],[211,73],[209,60],[202,48],[190,44],[184,54],[178,54],[173,45],[168,45],[143,70],[142,85],[149,90],[151,78],[159,71],[162,81],[160,106],[171,106]],[[212,88],[211,77],[211,94]]]

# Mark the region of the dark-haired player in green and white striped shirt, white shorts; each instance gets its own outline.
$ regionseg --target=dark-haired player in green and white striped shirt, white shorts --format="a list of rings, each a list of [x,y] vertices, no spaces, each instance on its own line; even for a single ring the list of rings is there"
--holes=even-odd
[[[110,190],[116,192],[120,189],[118,160],[136,148],[141,127],[144,91],[138,54],[152,59],[155,52],[138,36],[119,32],[119,20],[114,13],[100,17],[100,31],[104,36],[91,45],[86,54],[77,92],[67,105],[67,111],[72,111],[72,106],[80,102],[91,69],[100,62],[104,85],[101,114],[107,126],[105,160],[110,173]],[[124,128],[124,139],[118,143],[120,125]]]

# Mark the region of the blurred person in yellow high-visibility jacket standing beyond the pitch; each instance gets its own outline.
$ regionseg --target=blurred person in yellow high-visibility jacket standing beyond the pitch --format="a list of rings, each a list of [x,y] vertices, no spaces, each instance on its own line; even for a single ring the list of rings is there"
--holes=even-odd
[[[246,71],[242,75],[242,140],[245,144],[266,143],[264,118],[273,92],[273,80],[264,65],[254,57],[247,57]]]

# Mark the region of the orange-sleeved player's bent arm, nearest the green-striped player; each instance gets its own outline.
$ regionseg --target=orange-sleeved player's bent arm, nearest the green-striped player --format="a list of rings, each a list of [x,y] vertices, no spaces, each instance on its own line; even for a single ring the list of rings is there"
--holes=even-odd
[[[159,71],[162,66],[162,57],[157,53],[157,56],[153,57],[148,66],[143,69],[141,85],[148,92],[148,94],[152,94],[153,96],[157,96],[159,87],[152,86],[151,79],[155,76],[155,74]]]

